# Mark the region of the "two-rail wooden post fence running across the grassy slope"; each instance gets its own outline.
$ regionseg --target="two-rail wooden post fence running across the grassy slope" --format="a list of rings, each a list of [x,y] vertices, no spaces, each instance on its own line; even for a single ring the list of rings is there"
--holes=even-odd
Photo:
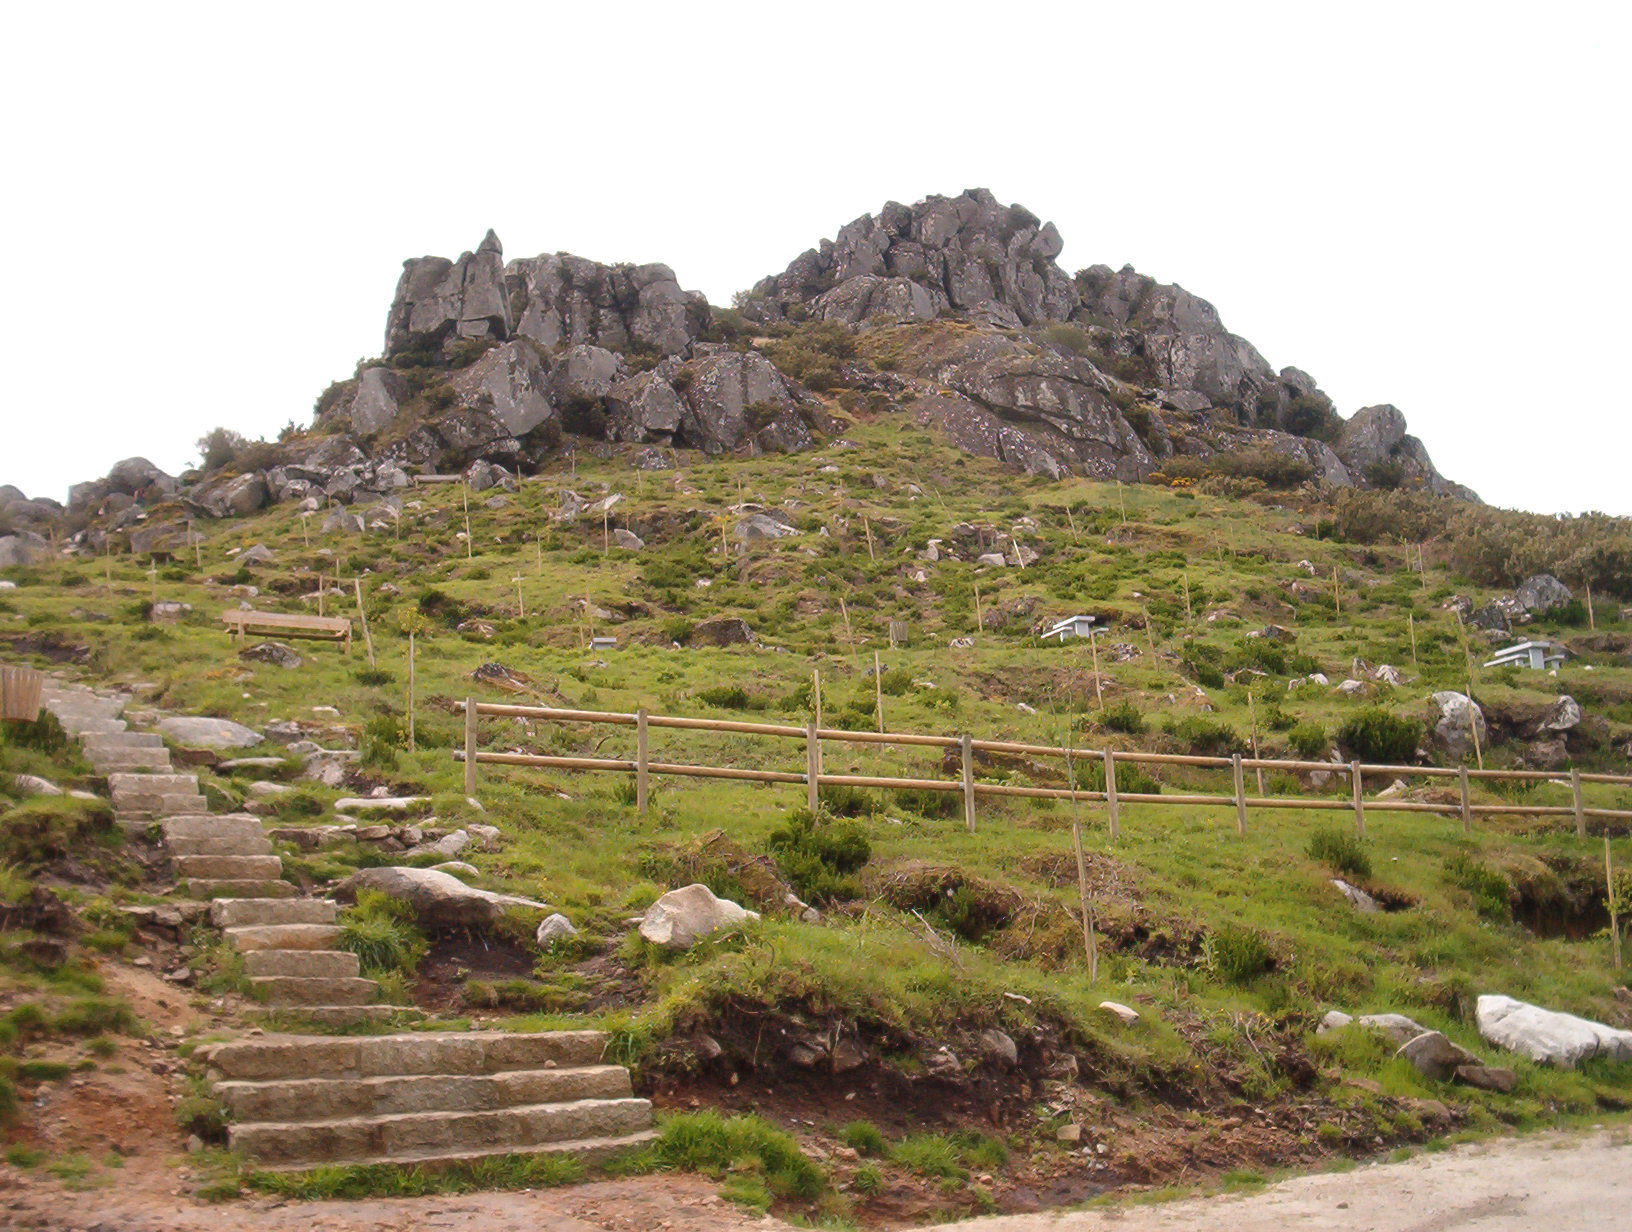
[[[1581,796],[1583,783],[1616,783],[1632,787],[1632,775],[1583,773],[1570,770],[1568,775],[1547,770],[1469,770],[1467,767],[1439,765],[1368,765],[1361,762],[1302,762],[1275,757],[1204,757],[1190,754],[1136,752],[1118,749],[1075,749],[1062,744],[1023,744],[1017,741],[987,741],[971,736],[929,736],[906,731],[847,731],[840,728],[818,728],[816,723],[793,726],[787,723],[746,723],[718,718],[684,718],[677,715],[650,715],[638,710],[633,715],[605,710],[560,710],[553,707],[522,707],[493,702],[465,700],[465,747],[455,752],[465,764],[465,795],[477,795],[477,767],[486,765],[529,765],[553,770],[612,770],[635,775],[635,803],[645,813],[651,793],[653,775],[671,775],[682,778],[733,778],[749,783],[801,783],[806,790],[806,803],[816,809],[818,793],[823,787],[860,787],[860,788],[896,788],[909,791],[961,791],[963,819],[969,831],[974,829],[976,801],[981,796],[1022,796],[1030,800],[1074,800],[1084,803],[1103,803],[1110,824],[1110,835],[1115,839],[1121,829],[1121,808],[1124,804],[1178,804],[1178,806],[1231,806],[1235,809],[1235,827],[1247,832],[1248,809],[1327,809],[1353,813],[1355,831],[1366,832],[1368,813],[1439,813],[1459,816],[1462,829],[1470,831],[1474,818],[1488,813],[1503,813],[1526,818],[1573,818],[1575,832],[1586,837],[1588,818],[1611,821],[1632,819],[1629,809],[1588,808]],[[477,747],[477,723],[481,716],[542,720],[550,723],[591,723],[635,728],[635,757],[560,757],[530,752],[483,752]],[[650,751],[650,731],[653,728],[674,728],[682,731],[720,731],[738,736],[765,736],[772,739],[805,741],[805,770],[746,770],[731,765],[694,765],[679,762],[654,762]],[[885,775],[827,773],[823,770],[823,742],[842,744],[885,744],[906,747],[956,749],[961,762],[958,780],[945,778],[894,778]],[[1098,764],[1105,772],[1102,790],[1077,790],[1072,787],[1027,787],[1018,783],[987,783],[974,777],[974,754],[1018,754],[1023,757],[1059,757],[1066,760],[1067,782],[1074,782],[1075,765]],[[1118,791],[1118,765],[1182,765],[1211,770],[1229,770],[1232,790],[1229,795],[1159,795],[1147,791]],[[1289,770],[1289,772],[1325,772],[1346,775],[1350,782],[1348,798],[1332,796],[1248,796],[1245,787],[1247,770]],[[1457,787],[1454,803],[1435,803],[1417,800],[1384,800],[1366,798],[1366,775],[1387,777],[1389,780],[1404,777],[1448,778]],[[1475,782],[1568,782],[1570,804],[1475,804],[1469,790]]]

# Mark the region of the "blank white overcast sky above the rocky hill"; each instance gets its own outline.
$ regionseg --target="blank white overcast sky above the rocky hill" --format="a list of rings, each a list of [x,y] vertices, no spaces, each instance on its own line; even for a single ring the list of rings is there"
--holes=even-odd
[[[1624,5],[11,5],[0,483],[307,423],[401,261],[716,304],[991,188],[1485,499],[1632,514]]]

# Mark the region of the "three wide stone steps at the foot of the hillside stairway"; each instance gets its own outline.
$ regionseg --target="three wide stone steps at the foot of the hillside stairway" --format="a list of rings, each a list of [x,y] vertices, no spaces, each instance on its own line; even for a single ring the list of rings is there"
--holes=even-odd
[[[601,1062],[605,1043],[601,1031],[268,1035],[201,1057],[233,1149],[258,1167],[441,1165],[650,1141],[651,1103],[627,1069]]]

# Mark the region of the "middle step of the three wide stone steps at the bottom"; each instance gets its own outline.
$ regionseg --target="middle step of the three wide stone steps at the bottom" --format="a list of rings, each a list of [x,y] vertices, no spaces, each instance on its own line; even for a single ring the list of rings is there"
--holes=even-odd
[[[405,1113],[478,1113],[573,1100],[627,1100],[622,1066],[514,1069],[504,1074],[413,1074],[379,1079],[219,1082],[235,1121],[339,1121]]]

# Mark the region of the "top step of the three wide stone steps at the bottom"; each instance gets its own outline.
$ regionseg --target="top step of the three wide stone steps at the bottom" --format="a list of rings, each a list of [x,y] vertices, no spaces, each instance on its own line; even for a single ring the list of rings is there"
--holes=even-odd
[[[240,930],[230,930],[228,937],[232,932]],[[351,1038],[263,1035],[212,1044],[206,1059],[225,1077],[248,1082],[366,1079],[599,1066],[605,1046],[605,1031],[413,1031]]]

